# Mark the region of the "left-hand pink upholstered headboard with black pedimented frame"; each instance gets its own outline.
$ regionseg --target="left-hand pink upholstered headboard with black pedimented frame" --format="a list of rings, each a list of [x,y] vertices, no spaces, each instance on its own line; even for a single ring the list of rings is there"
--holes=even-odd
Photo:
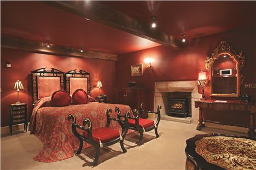
[[[40,98],[51,96],[57,90],[65,90],[64,73],[55,68],[45,68],[31,72],[33,104]]]

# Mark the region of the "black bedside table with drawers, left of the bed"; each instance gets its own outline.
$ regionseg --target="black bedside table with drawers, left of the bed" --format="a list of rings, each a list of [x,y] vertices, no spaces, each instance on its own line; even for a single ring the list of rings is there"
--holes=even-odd
[[[27,132],[27,104],[15,103],[9,105],[10,122],[9,129],[10,134],[13,135],[13,125],[24,123],[24,131]]]

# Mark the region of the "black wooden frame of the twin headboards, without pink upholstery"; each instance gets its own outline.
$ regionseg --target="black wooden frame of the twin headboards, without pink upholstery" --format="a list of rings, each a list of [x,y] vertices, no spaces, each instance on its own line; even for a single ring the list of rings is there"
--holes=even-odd
[[[79,70],[76,72],[76,69],[69,71],[67,73],[61,72],[56,68],[51,68],[50,70],[46,70],[46,67],[39,68],[34,71],[31,71],[32,77],[32,104],[36,104],[36,102],[40,99],[38,96],[38,77],[60,77],[60,89],[65,90],[69,93],[70,77],[79,77],[79,78],[87,78],[87,93],[90,95],[91,86],[90,86],[90,73],[85,72],[83,70]]]

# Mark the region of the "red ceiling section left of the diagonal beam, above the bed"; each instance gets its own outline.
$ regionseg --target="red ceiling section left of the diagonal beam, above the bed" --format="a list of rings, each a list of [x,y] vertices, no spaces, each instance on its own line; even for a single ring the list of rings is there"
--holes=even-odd
[[[1,1],[1,34],[110,54],[160,45],[35,1]]]

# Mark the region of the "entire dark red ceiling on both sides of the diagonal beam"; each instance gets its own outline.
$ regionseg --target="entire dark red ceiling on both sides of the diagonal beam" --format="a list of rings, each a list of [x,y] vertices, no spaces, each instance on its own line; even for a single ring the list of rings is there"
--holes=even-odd
[[[181,38],[255,25],[255,1],[101,1],[138,21],[156,16],[160,30]],[[1,34],[85,49],[124,54],[160,44],[87,21],[36,1],[1,1]]]

